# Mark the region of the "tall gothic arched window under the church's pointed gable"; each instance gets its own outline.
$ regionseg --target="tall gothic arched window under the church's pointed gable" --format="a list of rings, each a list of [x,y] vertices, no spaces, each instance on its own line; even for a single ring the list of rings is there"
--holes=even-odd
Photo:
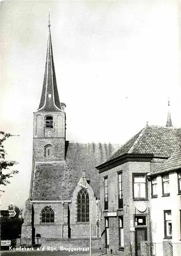
[[[89,195],[85,189],[77,195],[77,221],[89,222]]]

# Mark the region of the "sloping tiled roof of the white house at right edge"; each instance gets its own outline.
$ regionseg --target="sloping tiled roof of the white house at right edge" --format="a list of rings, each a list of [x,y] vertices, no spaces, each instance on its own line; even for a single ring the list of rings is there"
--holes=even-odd
[[[176,169],[181,169],[181,147],[176,153],[168,158],[156,172],[152,173],[151,175],[170,172]]]

